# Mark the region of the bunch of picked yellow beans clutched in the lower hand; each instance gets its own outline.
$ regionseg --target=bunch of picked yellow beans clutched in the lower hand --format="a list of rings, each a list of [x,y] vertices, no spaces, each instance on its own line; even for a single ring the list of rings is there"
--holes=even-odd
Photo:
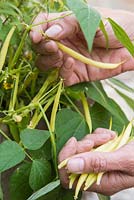
[[[128,126],[123,129],[122,133],[119,136],[117,136],[113,140],[97,147],[96,149],[93,149],[92,151],[111,152],[111,151],[115,151],[115,150],[119,149],[120,147],[122,147],[123,145],[127,144],[130,141],[132,127],[133,127],[133,121],[131,121],[128,124]],[[133,139],[133,138],[131,138],[131,139]],[[65,167],[67,165],[67,162],[69,161],[69,159],[71,159],[71,157],[63,160],[59,164],[58,168],[61,169],[61,168]],[[84,190],[87,190],[95,182],[99,185],[104,173],[105,172],[101,172],[98,174],[95,174],[95,173],[90,173],[90,174],[85,173],[85,174],[80,174],[80,175],[79,174],[70,174],[70,176],[69,176],[69,179],[70,179],[69,188],[70,189],[72,189],[72,186],[73,186],[75,180],[77,180],[74,199],[78,198],[79,191],[83,184],[84,184]]]

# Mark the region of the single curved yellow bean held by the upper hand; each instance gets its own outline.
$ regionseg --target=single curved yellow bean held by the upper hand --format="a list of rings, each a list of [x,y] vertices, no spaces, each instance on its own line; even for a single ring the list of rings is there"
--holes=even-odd
[[[81,61],[85,64],[97,67],[97,68],[115,69],[115,68],[119,67],[121,64],[123,64],[124,62],[126,62],[126,61],[122,61],[122,62],[119,62],[119,63],[98,62],[98,61],[92,60],[90,58],[87,58],[87,57],[81,55],[80,53],[70,49],[69,47],[66,47],[65,45],[61,44],[60,42],[56,41],[56,44],[58,45],[59,49],[61,49],[65,53],[69,54],[73,58],[75,58],[75,59],[77,59],[77,60],[79,60],[79,61]]]

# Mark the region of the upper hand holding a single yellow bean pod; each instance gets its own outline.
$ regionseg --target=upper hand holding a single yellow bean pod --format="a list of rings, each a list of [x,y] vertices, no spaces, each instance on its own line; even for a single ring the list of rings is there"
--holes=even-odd
[[[121,10],[100,9],[102,16],[111,17],[119,23],[128,33],[130,39],[134,40],[134,14]],[[50,20],[55,17],[65,15],[66,13],[45,13],[39,14],[34,24]],[[35,51],[39,54],[36,65],[41,70],[47,70],[52,67],[60,68],[60,75],[64,79],[65,85],[73,85],[79,82],[96,81],[109,78],[122,72],[134,69],[134,59],[129,52],[117,41],[111,26],[105,23],[105,28],[109,35],[109,50],[106,50],[105,38],[103,33],[98,30],[94,39],[93,50],[91,53],[87,50],[86,41],[80,30],[79,24],[73,15],[66,16],[42,25],[33,27],[30,36],[34,44]],[[41,32],[45,32],[52,40],[44,40]],[[86,57],[96,61],[119,63],[127,60],[124,64],[113,70],[98,69],[86,65],[73,59],[58,49],[53,40],[61,41],[64,45],[83,54]]]

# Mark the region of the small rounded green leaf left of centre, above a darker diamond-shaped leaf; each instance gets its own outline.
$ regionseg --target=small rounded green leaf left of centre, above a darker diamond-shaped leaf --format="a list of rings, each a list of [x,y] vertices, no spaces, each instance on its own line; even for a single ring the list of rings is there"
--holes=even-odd
[[[49,131],[38,129],[24,129],[20,133],[20,138],[25,148],[36,150],[41,148],[50,137]]]

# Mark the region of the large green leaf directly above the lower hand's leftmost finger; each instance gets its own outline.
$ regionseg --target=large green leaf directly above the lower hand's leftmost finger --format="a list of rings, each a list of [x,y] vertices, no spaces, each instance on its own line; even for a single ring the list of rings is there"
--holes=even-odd
[[[59,152],[70,137],[80,140],[89,133],[89,129],[84,117],[72,110],[62,109],[57,114],[55,133]]]

